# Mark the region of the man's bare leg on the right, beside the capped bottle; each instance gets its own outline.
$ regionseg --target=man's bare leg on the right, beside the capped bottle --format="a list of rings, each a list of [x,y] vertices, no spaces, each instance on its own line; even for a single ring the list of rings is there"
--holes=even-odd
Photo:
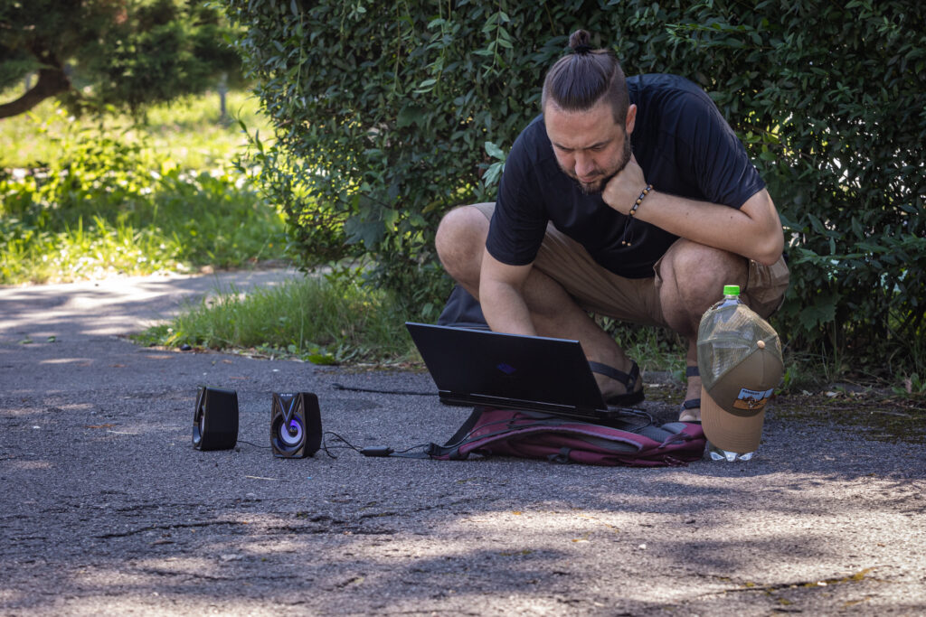
[[[662,314],[673,330],[688,340],[685,364],[697,366],[697,328],[701,315],[719,299],[724,285],[745,287],[745,257],[703,244],[680,240],[662,259],[659,274]],[[701,397],[701,377],[688,377],[685,401]],[[683,410],[684,420],[700,420],[701,410]]]

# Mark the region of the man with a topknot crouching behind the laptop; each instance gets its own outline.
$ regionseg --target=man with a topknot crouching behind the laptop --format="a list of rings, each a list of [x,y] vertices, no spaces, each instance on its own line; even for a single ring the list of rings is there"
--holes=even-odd
[[[581,341],[610,404],[642,401],[643,382],[589,313],[678,332],[680,420],[698,421],[698,322],[725,284],[763,317],[778,309],[782,224],[707,93],[672,75],[625,79],[589,40],[574,32],[547,72],[497,201],[444,216],[437,251],[493,330]]]

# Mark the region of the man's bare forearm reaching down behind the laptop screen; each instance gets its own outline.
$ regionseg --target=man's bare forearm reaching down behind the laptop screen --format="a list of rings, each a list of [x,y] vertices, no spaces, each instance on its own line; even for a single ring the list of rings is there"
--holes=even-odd
[[[482,255],[479,302],[485,321],[494,331],[537,334],[522,291],[531,267],[503,264],[488,251]]]

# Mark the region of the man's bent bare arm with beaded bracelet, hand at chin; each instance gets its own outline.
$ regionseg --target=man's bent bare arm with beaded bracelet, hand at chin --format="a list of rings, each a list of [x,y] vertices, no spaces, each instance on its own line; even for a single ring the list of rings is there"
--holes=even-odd
[[[627,167],[608,181],[602,198],[626,215],[645,186],[643,169],[632,157]],[[737,253],[760,264],[774,264],[782,256],[782,222],[765,189],[736,209],[661,193],[655,187],[634,217],[680,238]]]

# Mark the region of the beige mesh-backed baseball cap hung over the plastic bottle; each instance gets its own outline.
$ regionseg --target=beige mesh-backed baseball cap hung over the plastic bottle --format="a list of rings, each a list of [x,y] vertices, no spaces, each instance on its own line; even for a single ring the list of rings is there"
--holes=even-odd
[[[697,357],[705,436],[722,450],[757,450],[784,372],[778,333],[745,304],[716,306],[701,317]]]

